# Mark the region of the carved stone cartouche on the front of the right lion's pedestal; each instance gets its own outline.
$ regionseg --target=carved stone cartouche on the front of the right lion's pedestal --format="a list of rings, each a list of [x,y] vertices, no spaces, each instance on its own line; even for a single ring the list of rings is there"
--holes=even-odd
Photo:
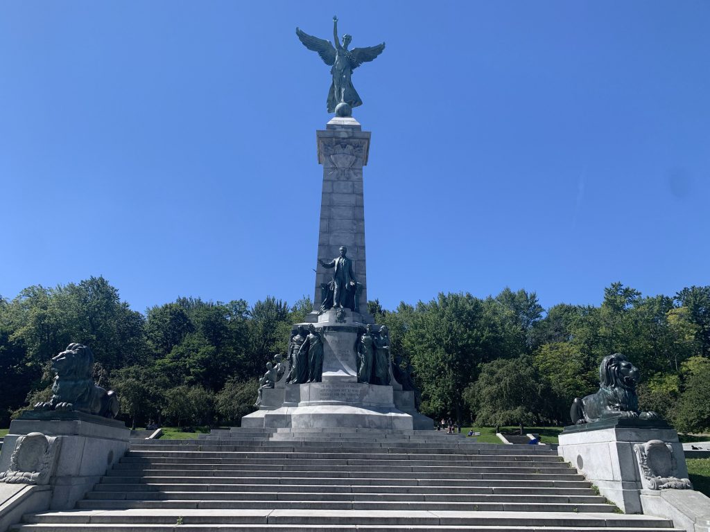
[[[672,445],[661,440],[637,443],[633,451],[645,489],[693,489],[687,478],[677,478],[677,462]]]

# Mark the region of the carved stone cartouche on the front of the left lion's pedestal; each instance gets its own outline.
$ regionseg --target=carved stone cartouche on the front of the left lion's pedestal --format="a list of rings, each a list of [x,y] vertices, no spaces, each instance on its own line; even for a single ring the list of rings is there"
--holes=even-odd
[[[10,469],[0,473],[6,484],[48,484],[53,475],[62,441],[31,432],[17,438],[10,458]]]

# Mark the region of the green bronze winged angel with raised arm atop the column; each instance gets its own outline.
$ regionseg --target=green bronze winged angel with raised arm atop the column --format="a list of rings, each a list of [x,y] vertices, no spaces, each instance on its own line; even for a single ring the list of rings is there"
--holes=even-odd
[[[298,35],[298,38],[308,50],[318,52],[325,64],[332,66],[330,73],[333,75],[333,82],[328,92],[328,112],[334,113],[336,112],[336,107],[338,107],[337,113],[340,116],[350,116],[352,107],[362,105],[362,100],[352,84],[351,76],[353,70],[364,62],[372,61],[380,55],[382,50],[385,49],[385,43],[368,46],[367,48],[348,50],[352,37],[346,33],[343,35],[343,44],[340,44],[337,16],[333,17],[335,47],[329,40],[308,35],[298,28],[296,28],[296,35]],[[347,105],[339,106],[342,103]]]

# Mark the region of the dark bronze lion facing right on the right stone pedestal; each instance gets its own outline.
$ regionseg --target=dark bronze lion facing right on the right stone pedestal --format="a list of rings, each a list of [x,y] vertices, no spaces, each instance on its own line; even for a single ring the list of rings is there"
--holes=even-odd
[[[604,357],[599,366],[599,392],[574,399],[569,411],[572,423],[580,425],[614,418],[658,419],[655,412],[638,409],[636,384],[639,377],[638,367],[621,353]]]

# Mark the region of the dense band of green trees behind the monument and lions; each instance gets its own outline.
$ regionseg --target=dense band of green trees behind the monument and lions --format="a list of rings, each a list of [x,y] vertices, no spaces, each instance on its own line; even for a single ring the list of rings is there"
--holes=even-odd
[[[121,418],[178,426],[237,424],[253,411],[258,377],[285,353],[310,299],[202,301],[180,297],[132,311],[103,277],[0,297],[0,426],[51,395],[49,360],[89,345],[94,378],[116,389]],[[640,406],[680,431],[710,428],[710,287],[643,297],[613,283],[599,306],[545,311],[534,292],[485,299],[438,294],[383,309],[393,358],[413,367],[420,410],[481,426],[567,424],[574,397],[599,386],[599,362],[623,353],[642,372]]]

